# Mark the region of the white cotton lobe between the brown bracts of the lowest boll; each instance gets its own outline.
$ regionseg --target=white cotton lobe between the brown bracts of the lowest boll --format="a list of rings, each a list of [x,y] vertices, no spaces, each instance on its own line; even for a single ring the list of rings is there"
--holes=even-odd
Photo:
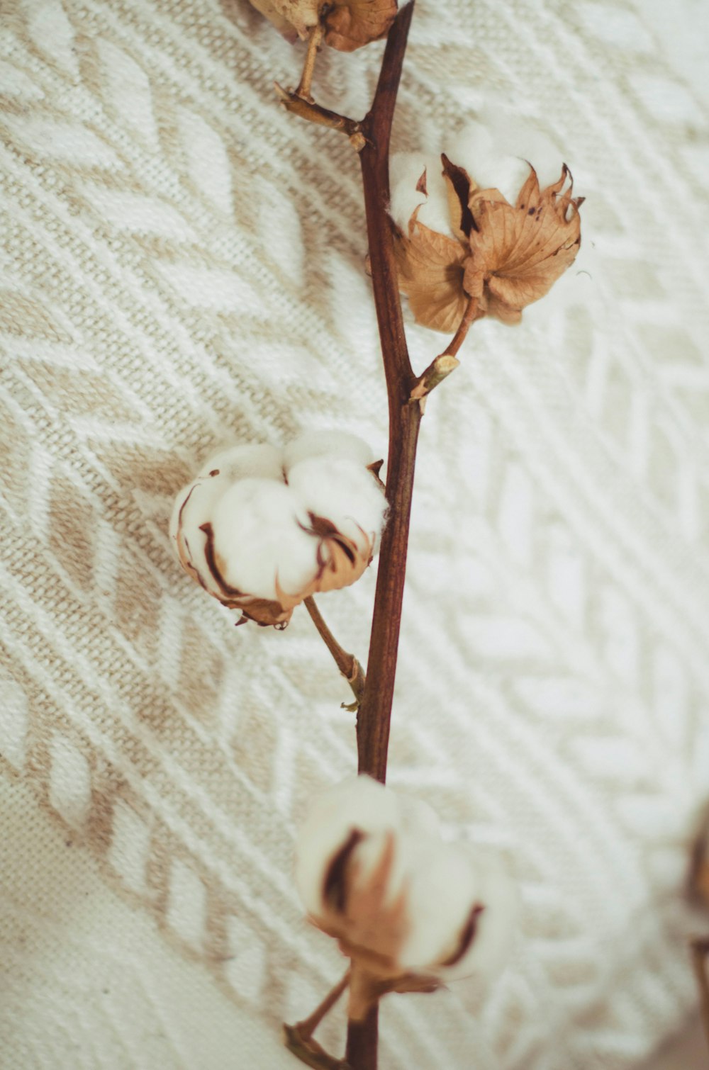
[[[459,847],[419,841],[408,850],[412,856],[407,888],[410,931],[399,961],[406,968],[425,969],[454,953],[476,905],[476,876]]]

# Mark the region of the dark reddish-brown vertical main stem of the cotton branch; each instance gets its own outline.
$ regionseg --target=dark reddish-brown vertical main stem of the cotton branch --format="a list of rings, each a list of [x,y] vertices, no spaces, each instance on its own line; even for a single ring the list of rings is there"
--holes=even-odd
[[[389,208],[389,142],[413,2],[402,7],[389,31],[372,110],[362,123],[360,153],[372,285],[389,399],[387,499],[389,522],[379,550],[377,588],[364,694],[357,717],[358,768],[382,783],[402,622],[416,448],[421,406],[409,400],[411,369],[398,296]],[[352,1070],[377,1070],[378,1008],[364,1022],[349,1022],[346,1059]]]

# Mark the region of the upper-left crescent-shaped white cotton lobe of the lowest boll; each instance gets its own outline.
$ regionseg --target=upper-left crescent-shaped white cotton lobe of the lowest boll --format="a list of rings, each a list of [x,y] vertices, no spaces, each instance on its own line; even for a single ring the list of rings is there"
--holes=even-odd
[[[308,913],[322,908],[327,870],[352,830],[376,834],[398,820],[396,796],[371,777],[349,777],[314,800],[296,844],[296,887]]]

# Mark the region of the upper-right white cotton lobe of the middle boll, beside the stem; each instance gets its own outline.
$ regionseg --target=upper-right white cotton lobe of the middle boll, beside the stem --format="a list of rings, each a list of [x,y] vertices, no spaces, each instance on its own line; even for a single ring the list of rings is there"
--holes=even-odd
[[[361,553],[376,548],[387,499],[372,472],[347,457],[312,457],[288,472],[288,486],[301,507],[327,517]]]

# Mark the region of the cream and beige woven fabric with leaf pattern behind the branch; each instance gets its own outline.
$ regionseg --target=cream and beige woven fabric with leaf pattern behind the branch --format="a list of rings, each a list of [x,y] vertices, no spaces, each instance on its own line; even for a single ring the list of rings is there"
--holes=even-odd
[[[395,148],[512,109],[594,266],[477,324],[426,412],[390,779],[509,852],[524,904],[484,1002],[386,1003],[386,1070],[627,1070],[695,1003],[709,32],[666,7],[418,2]],[[300,56],[245,0],[0,16],[0,1061],[296,1066],[280,1022],[343,967],[292,839],[354,767],[347,689],[303,612],[236,631],[167,520],[223,444],[386,449],[357,158],[276,107]],[[318,96],[363,113],[380,56],[325,54]],[[409,334],[423,368],[441,337]],[[375,569],[320,600],[361,658]]]

